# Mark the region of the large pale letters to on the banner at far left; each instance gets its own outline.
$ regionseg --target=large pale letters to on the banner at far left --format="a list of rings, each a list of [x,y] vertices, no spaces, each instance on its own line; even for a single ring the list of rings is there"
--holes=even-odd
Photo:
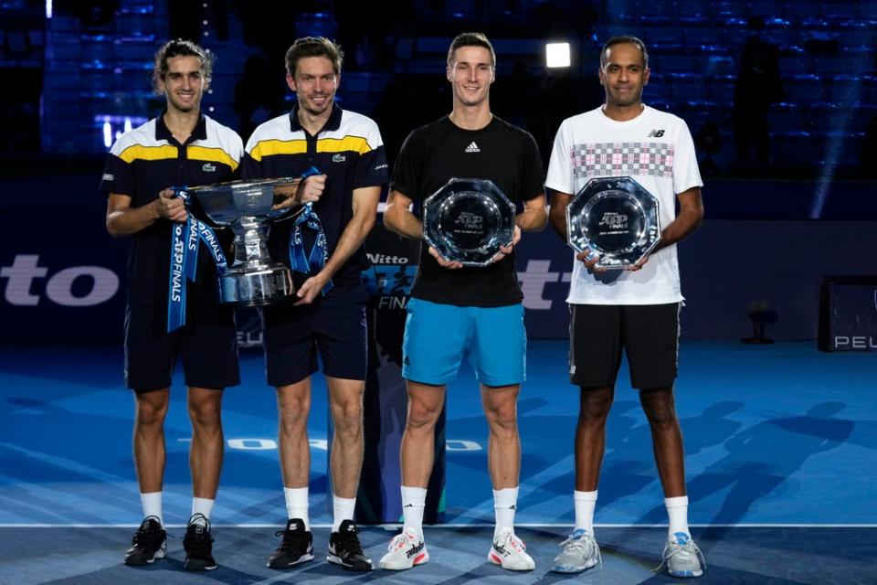
[[[0,278],[7,279],[6,303],[37,306],[42,296],[33,290],[34,282],[46,280],[45,294],[52,303],[67,307],[90,307],[106,303],[119,291],[119,277],[101,266],[72,266],[48,276],[48,268],[39,265],[36,254],[17,254],[10,266],[0,268]],[[90,287],[83,287],[83,279]],[[79,281],[74,294],[73,283]]]

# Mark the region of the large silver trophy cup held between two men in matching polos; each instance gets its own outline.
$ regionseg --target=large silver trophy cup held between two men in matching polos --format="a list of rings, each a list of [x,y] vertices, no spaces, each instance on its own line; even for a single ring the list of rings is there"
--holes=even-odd
[[[274,208],[286,198],[278,187],[292,183],[289,178],[230,181],[188,189],[210,222],[235,234],[234,260],[217,274],[220,303],[259,306],[294,297],[290,269],[272,260],[266,246],[271,222],[291,210]]]

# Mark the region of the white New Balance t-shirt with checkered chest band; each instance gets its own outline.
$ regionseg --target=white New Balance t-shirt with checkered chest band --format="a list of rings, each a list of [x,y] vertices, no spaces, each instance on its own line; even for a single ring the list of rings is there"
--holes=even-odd
[[[567,118],[557,131],[545,186],[576,195],[598,176],[630,176],[658,197],[660,227],[676,218],[676,195],[703,186],[692,134],[681,118],[649,106],[627,122],[596,110]],[[682,301],[672,244],[650,255],[639,271],[588,273],[573,254],[567,303],[665,304]]]

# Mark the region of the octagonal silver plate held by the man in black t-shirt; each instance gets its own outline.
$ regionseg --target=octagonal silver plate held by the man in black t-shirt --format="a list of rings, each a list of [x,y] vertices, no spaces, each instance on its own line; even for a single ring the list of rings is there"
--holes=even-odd
[[[423,202],[423,239],[445,260],[486,266],[512,245],[514,204],[490,180],[452,178]]]

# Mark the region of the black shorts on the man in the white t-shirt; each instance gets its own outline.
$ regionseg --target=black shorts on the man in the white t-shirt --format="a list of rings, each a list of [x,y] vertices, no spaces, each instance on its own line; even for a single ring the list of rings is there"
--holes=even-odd
[[[569,306],[569,379],[573,384],[614,386],[623,348],[633,388],[672,386],[679,356],[681,303]]]

